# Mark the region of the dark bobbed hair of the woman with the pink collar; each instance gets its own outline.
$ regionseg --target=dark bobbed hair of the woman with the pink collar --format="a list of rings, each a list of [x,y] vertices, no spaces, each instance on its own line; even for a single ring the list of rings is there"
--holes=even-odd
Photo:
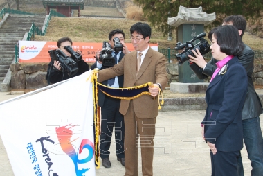
[[[213,28],[208,33],[208,38],[212,40],[212,35],[217,39],[220,51],[226,55],[240,55],[244,49],[244,43],[239,36],[238,30],[233,25],[224,25]]]

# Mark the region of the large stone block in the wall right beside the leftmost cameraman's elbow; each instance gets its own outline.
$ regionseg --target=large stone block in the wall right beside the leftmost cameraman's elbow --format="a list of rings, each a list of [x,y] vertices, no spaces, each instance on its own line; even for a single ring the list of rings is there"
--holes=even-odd
[[[38,71],[26,78],[26,89],[39,89],[47,85],[46,72]]]

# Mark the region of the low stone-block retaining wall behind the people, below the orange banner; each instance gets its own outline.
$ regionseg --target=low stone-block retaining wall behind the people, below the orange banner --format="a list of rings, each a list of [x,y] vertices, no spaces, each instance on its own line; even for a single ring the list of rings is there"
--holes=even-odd
[[[91,66],[92,63],[89,63]],[[46,81],[46,70],[48,63],[36,64],[11,64],[12,71],[10,87],[12,89],[39,89],[48,85]],[[178,64],[166,65],[168,84],[178,82]],[[204,82],[209,82],[210,78]],[[253,82],[255,85],[263,85],[263,64],[255,64],[253,73]]]

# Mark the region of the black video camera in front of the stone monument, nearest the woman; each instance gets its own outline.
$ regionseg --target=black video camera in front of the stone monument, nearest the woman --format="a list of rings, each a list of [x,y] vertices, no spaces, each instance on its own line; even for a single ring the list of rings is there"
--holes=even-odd
[[[189,60],[190,58],[188,57],[188,55],[192,55],[193,57],[195,57],[192,50],[197,52],[197,49],[198,49],[201,55],[205,55],[206,53],[210,51],[210,44],[208,43],[208,41],[206,41],[206,39],[203,39],[203,37],[206,37],[206,33],[201,33],[197,35],[196,37],[194,37],[189,42],[185,42],[184,44],[181,44],[181,42],[178,42],[176,44],[176,47],[175,47],[176,50],[181,50],[185,48],[182,53],[175,55],[176,59],[179,61],[179,64],[183,64],[183,62]],[[194,45],[192,42],[194,42],[196,39],[199,39],[200,42]]]

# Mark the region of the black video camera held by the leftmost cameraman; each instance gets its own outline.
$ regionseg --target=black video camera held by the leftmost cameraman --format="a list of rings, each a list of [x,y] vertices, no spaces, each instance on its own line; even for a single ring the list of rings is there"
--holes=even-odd
[[[60,49],[48,51],[51,60],[60,62],[60,71],[67,72],[69,76],[78,72],[78,64],[71,57],[67,56]]]

